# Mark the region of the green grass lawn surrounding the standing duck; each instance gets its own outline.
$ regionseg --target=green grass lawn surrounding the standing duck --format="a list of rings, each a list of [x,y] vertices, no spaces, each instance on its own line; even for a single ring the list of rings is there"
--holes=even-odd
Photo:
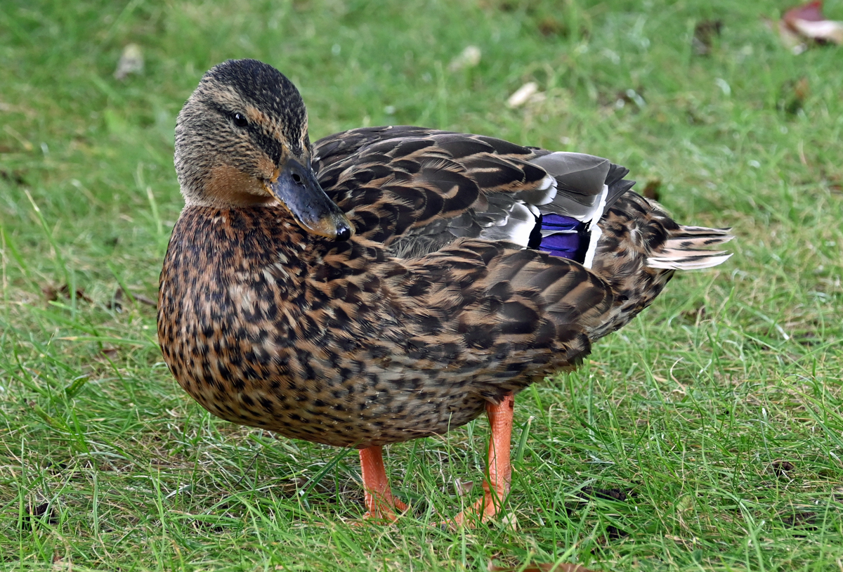
[[[781,46],[759,14],[784,8],[5,2],[0,567],[841,569],[843,75],[840,48]],[[146,68],[118,81],[130,42]],[[449,69],[468,45],[479,65]],[[428,526],[476,494],[454,483],[479,483],[482,419],[389,448],[414,515],[352,527],[353,453],[212,418],[162,364],[143,300],[181,206],[175,116],[228,57],[287,73],[313,138],[411,123],[604,155],[677,219],[734,227],[730,261],[518,397],[516,530]],[[507,108],[527,81],[545,99]]]

